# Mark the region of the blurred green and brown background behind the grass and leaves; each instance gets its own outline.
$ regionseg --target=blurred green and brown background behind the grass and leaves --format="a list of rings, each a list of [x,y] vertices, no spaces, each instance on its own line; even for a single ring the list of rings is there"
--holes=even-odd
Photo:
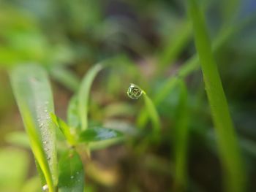
[[[115,64],[94,82],[91,123],[128,130],[129,137],[95,149],[92,158],[97,169],[86,176],[86,191],[175,191],[175,130],[185,121],[181,91],[173,88],[157,104],[162,123],[159,145],[143,145],[143,137],[136,136],[143,101],[132,101],[126,92],[134,82],[154,98],[195,55],[186,4],[178,0],[0,0],[0,191],[40,191],[8,71],[18,64],[44,66],[56,113],[66,118],[68,101],[83,74],[107,58],[115,58]],[[214,56],[244,157],[247,189],[255,191],[256,2],[202,0],[200,5],[213,45],[222,42],[214,48]],[[222,169],[200,70],[187,72],[185,82],[186,191],[222,191]],[[148,123],[144,134],[150,128]]]

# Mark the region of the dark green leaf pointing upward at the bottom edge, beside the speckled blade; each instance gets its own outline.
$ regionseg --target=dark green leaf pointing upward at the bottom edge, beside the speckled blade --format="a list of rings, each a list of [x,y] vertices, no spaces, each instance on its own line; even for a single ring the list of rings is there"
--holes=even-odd
[[[59,161],[59,192],[83,192],[83,163],[75,150],[61,156]]]

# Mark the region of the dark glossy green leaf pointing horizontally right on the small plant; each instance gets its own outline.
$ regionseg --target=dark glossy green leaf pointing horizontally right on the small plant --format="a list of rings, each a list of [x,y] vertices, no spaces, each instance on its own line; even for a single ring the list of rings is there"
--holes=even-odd
[[[123,134],[120,131],[116,131],[110,128],[92,127],[81,132],[80,142],[97,142],[105,139],[113,139],[121,137]]]

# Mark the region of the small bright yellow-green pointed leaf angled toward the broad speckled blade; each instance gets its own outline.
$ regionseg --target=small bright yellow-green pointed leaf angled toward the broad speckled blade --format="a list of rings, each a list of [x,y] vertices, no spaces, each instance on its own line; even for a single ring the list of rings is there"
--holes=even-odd
[[[50,117],[56,123],[56,126],[58,126],[61,129],[61,132],[64,134],[64,136],[67,139],[67,142],[69,142],[70,145],[74,146],[76,143],[75,139],[75,131],[72,133],[71,128],[67,125],[67,123],[64,122],[64,120],[61,120],[61,118],[58,118],[53,113],[50,114]]]

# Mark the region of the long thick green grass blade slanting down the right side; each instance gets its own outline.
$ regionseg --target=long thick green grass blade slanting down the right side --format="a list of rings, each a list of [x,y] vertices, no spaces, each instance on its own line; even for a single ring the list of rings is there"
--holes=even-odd
[[[227,191],[244,191],[245,172],[236,133],[230,118],[217,64],[211,51],[203,14],[195,0],[189,0],[189,15],[195,31],[195,45],[200,58],[211,114],[216,128],[219,155]]]

